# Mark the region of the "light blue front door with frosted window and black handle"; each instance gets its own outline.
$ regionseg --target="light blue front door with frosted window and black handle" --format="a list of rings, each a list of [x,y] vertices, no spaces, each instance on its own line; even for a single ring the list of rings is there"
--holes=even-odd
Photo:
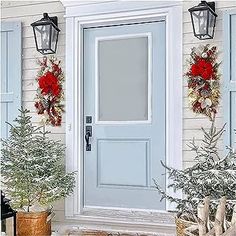
[[[165,188],[165,30],[84,29],[86,207],[165,209],[152,180]]]

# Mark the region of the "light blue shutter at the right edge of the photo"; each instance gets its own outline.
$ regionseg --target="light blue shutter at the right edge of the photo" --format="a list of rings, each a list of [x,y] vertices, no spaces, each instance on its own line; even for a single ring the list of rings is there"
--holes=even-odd
[[[225,144],[236,148],[236,11],[224,15]]]

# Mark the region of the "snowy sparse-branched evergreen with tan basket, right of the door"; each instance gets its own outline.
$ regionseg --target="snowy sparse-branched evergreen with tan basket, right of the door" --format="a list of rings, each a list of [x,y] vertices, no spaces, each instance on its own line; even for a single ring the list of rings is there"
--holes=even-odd
[[[210,130],[202,128],[202,131],[202,143],[198,145],[193,139],[189,145],[191,151],[195,152],[193,166],[178,170],[162,163],[170,179],[168,188],[182,191],[183,198],[168,195],[154,180],[162,196],[161,199],[167,199],[176,204],[178,236],[185,235],[184,229],[192,222],[197,222],[197,206],[205,197],[211,199],[210,216],[213,221],[220,198],[225,196],[227,199],[226,217],[228,219],[232,217],[236,200],[236,152],[228,147],[228,153],[220,157],[217,147],[224,127],[217,130],[213,120]]]

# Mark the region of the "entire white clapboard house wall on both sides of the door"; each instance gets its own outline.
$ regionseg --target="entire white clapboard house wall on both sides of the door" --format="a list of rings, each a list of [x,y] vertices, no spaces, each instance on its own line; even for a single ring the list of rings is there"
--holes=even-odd
[[[216,32],[214,40],[199,41],[193,36],[192,25],[190,22],[190,15],[188,9],[194,5],[197,5],[199,1],[184,1],[183,3],[183,71],[186,71],[186,59],[189,56],[190,49],[193,46],[199,44],[210,43],[211,45],[218,46],[220,50],[220,58],[222,60],[222,16],[223,11],[227,9],[236,9],[236,1],[217,1],[216,12],[218,14]],[[81,2],[81,4],[88,4],[88,2]],[[99,4],[97,1],[94,6]],[[34,97],[37,84],[35,83],[35,75],[38,70],[36,64],[36,58],[41,58],[42,55],[35,49],[35,43],[33,38],[33,32],[30,24],[42,17],[43,12],[48,12],[49,15],[57,15],[59,28],[61,29],[59,35],[59,44],[57,57],[62,60],[62,66],[64,68],[65,63],[65,20],[64,7],[59,1],[2,1],[1,2],[1,18],[3,21],[21,21],[23,28],[23,105],[31,110],[31,115],[35,124],[39,124],[40,117],[37,116],[34,109]],[[222,67],[221,67],[222,69]],[[188,150],[186,144],[194,136],[196,140],[201,139],[202,133],[200,127],[209,127],[210,122],[207,118],[193,114],[188,108],[187,99],[187,83],[186,78],[183,79],[183,166],[187,167],[193,163],[193,154]],[[217,127],[223,125],[223,111],[222,101],[220,104],[220,111],[216,118]],[[65,142],[65,117],[63,117],[63,123],[61,127],[52,128],[48,127],[48,130],[52,131],[51,136],[55,139],[61,139]],[[219,149],[223,152],[223,141],[219,143]],[[158,201],[158,199],[157,199]],[[64,203],[58,202],[55,205],[56,217],[54,222],[65,222],[64,219]]]

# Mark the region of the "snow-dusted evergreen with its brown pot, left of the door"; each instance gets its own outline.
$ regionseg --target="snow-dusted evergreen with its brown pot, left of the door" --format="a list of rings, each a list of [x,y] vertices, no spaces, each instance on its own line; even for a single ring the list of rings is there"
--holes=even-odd
[[[73,192],[75,173],[65,171],[65,146],[35,127],[28,113],[20,110],[2,140],[2,183],[17,210],[18,236],[48,236],[51,204]]]

